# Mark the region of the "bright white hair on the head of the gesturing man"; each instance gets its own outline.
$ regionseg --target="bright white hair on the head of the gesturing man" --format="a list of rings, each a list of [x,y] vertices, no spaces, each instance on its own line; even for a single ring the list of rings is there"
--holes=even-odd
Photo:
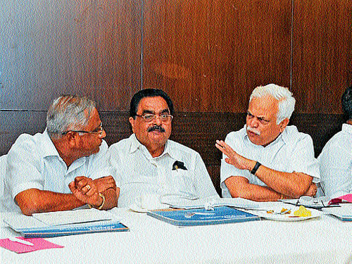
[[[249,97],[249,102],[253,98],[260,98],[263,96],[271,95],[279,103],[279,110],[277,111],[276,123],[279,124],[285,118],[291,118],[294,112],[294,105],[296,99],[292,96],[292,93],[288,88],[279,86],[277,84],[268,84],[265,86],[258,86],[253,90],[251,96]]]

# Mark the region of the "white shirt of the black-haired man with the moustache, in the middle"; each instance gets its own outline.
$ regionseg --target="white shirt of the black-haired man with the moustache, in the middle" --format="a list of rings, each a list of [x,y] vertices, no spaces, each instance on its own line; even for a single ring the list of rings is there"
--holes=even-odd
[[[206,165],[196,151],[168,140],[161,156],[153,158],[135,134],[110,146],[115,180],[120,182],[118,207],[140,203],[145,194],[204,198],[218,196]],[[186,169],[172,170],[175,161]]]

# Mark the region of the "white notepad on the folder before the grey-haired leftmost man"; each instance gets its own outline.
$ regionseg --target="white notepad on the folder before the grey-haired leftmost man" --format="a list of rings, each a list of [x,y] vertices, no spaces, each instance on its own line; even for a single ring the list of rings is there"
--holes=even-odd
[[[46,225],[69,225],[80,222],[111,220],[112,216],[111,213],[108,213],[105,210],[97,210],[94,208],[33,214],[33,218],[44,222]]]

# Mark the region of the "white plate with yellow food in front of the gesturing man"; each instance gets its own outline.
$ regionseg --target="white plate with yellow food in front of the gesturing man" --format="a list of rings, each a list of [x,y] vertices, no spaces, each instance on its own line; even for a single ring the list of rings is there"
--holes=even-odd
[[[304,206],[272,206],[270,208],[253,208],[253,215],[260,218],[278,221],[301,221],[310,218],[319,218],[322,212]]]

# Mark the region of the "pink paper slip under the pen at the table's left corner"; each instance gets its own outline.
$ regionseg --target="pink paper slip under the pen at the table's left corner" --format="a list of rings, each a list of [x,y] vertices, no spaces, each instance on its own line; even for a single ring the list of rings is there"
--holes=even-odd
[[[10,239],[0,239],[0,246],[3,247],[4,249],[8,249],[16,253],[27,253],[27,252],[37,251],[41,249],[63,248],[63,246],[51,243],[41,238],[35,238],[35,239],[25,239],[23,237],[18,237],[18,238],[31,242],[34,244],[34,246],[27,246],[24,244],[20,244],[18,242],[11,241]]]

